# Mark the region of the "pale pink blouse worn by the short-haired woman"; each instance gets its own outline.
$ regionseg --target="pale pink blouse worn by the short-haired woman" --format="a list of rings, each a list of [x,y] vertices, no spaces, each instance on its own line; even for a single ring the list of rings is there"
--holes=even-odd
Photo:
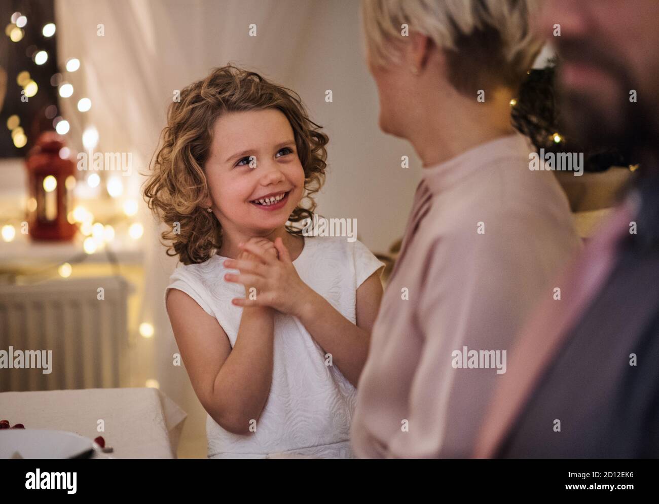
[[[581,246],[554,174],[529,169],[532,151],[512,134],[424,169],[358,383],[358,457],[471,455],[505,366],[456,367],[467,359],[455,352],[503,356]]]

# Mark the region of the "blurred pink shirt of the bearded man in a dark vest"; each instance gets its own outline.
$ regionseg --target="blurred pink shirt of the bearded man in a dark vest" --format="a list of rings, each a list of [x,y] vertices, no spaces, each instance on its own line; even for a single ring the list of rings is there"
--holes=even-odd
[[[520,331],[513,349],[515,358],[511,359],[505,378],[498,380],[485,421],[480,426],[474,457],[498,455],[515,420],[542,383],[543,374],[551,368],[569,338],[575,336],[573,330],[590,304],[606,283],[610,283],[609,275],[616,266],[619,242],[625,235],[629,236],[629,223],[638,214],[638,203],[634,196],[628,196],[617,206],[574,264],[561,275],[558,281],[563,286],[561,302],[545,299]],[[628,337],[625,334],[625,339]],[[597,383],[596,386],[602,391],[606,383]],[[568,400],[566,395],[563,397]],[[570,455],[566,457],[571,458]]]

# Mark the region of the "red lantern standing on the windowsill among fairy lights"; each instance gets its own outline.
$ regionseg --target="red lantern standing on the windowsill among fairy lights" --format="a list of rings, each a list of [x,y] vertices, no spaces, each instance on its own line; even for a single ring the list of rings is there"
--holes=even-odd
[[[76,226],[67,215],[73,210],[76,184],[75,164],[62,159],[63,139],[54,131],[44,132],[30,150],[28,171],[28,225],[34,240],[71,240]]]

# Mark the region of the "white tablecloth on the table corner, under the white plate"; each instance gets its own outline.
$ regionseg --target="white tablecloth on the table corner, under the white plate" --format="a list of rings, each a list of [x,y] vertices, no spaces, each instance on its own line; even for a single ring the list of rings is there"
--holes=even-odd
[[[113,447],[119,459],[172,459],[187,416],[158,389],[83,389],[0,393],[0,420],[26,429],[74,432]],[[98,420],[105,432],[98,432]]]

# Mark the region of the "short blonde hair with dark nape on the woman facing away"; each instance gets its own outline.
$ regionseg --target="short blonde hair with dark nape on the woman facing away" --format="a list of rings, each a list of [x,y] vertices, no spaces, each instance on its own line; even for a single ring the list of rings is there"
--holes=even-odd
[[[379,67],[400,63],[409,34],[444,49],[449,81],[471,95],[486,86],[516,90],[542,49],[530,30],[537,0],[362,0],[366,49]]]

